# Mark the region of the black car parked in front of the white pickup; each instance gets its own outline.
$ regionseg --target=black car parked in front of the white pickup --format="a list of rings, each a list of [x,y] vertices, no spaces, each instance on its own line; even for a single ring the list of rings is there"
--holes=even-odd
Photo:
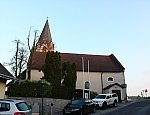
[[[72,100],[63,109],[64,115],[82,115],[91,112],[95,112],[95,105],[91,99]]]

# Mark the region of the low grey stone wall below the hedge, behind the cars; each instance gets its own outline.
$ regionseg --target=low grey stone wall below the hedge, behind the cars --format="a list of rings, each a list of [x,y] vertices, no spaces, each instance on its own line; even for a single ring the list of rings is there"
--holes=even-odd
[[[14,97],[13,97],[14,98]],[[17,99],[23,99],[32,106],[33,115],[40,115],[42,112],[42,98],[29,98],[29,97],[16,97]],[[44,115],[60,115],[62,114],[63,107],[70,100],[43,98],[43,112]],[[53,104],[53,106],[51,106]],[[52,111],[51,111],[52,110]]]

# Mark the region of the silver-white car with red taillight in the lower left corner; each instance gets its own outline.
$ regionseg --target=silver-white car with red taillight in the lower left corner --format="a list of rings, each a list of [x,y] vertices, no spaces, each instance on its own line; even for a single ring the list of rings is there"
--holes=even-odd
[[[32,115],[31,107],[20,99],[0,99],[0,115]]]

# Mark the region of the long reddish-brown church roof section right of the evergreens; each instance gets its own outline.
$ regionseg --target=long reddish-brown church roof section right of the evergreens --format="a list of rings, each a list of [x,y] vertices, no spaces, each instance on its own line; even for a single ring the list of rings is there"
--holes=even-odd
[[[90,55],[90,54],[61,53],[61,59],[62,63],[63,62],[75,63],[77,71],[83,71],[82,62],[84,62],[84,71],[87,72],[88,61],[90,72],[122,72],[125,69],[113,54]]]

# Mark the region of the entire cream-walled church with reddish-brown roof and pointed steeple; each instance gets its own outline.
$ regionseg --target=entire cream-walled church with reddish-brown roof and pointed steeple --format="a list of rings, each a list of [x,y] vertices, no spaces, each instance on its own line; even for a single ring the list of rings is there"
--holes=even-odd
[[[40,80],[44,76],[40,71],[45,63],[47,51],[54,51],[54,44],[49,29],[48,20],[45,23],[41,36],[30,54],[30,75],[28,71],[26,78]],[[89,98],[89,92],[117,93],[119,100],[127,97],[125,83],[125,68],[111,55],[91,55],[76,53],[60,53],[61,61],[76,64],[77,82],[76,89],[84,89],[84,97]]]

